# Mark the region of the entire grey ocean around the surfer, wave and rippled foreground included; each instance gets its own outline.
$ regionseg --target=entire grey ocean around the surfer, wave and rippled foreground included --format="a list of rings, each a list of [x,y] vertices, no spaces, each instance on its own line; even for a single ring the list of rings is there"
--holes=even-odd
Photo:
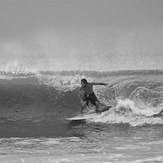
[[[81,78],[112,105],[87,121]],[[0,72],[0,163],[163,162],[163,71]]]

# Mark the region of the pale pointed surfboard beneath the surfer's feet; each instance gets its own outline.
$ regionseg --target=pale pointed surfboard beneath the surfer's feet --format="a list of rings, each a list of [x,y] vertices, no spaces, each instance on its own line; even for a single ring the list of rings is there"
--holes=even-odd
[[[96,116],[100,115],[101,113],[103,113],[105,111],[108,111],[110,108],[111,108],[111,106],[108,106],[108,107],[106,107],[105,109],[103,109],[102,111],[100,111],[98,113],[96,113],[95,111],[91,112],[91,113],[86,113],[86,114],[84,113],[84,114],[77,115],[77,116],[74,116],[74,117],[71,117],[71,118],[66,118],[66,120],[79,121],[79,120],[92,119],[92,118],[95,118]]]

